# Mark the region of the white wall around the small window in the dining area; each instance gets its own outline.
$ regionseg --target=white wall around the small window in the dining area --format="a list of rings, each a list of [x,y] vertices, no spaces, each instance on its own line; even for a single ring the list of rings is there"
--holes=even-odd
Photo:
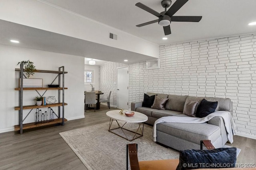
[[[92,85],[94,87],[94,90],[100,90],[99,89],[99,66],[84,64],[84,70],[92,70],[93,71]],[[92,87],[91,87],[90,83],[85,83],[84,91],[90,92],[91,90],[92,90]]]

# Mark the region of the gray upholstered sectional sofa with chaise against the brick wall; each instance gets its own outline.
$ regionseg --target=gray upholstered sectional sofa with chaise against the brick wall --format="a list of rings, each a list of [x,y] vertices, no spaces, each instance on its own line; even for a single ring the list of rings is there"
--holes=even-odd
[[[156,93],[147,92],[148,96]],[[157,94],[160,98],[169,98],[166,110],[142,107],[141,102],[132,102],[131,110],[144,113],[148,116],[146,123],[154,122],[164,116],[184,116],[182,114],[186,100],[195,101],[206,99],[210,102],[218,101],[218,110],[229,111],[232,115],[233,104],[229,98],[178,96],[170,94]],[[210,140],[215,148],[220,148],[228,141],[222,117],[213,117],[208,123],[170,123],[163,122],[156,125],[156,141],[176,150],[200,149],[200,140]]]

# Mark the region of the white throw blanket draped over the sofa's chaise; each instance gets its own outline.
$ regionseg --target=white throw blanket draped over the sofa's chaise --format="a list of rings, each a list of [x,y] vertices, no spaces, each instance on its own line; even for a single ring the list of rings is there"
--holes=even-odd
[[[154,141],[156,142],[156,124],[162,123],[162,122],[172,122],[172,123],[204,123],[206,121],[209,121],[212,119],[212,117],[220,116],[223,118],[224,125],[227,132],[228,142],[233,143],[233,135],[235,135],[235,123],[232,118],[232,115],[229,111],[215,111],[214,113],[211,113],[210,115],[199,118],[199,117],[189,117],[187,115],[176,115],[176,116],[166,116],[161,117],[157,119],[153,126],[152,135],[154,138]]]

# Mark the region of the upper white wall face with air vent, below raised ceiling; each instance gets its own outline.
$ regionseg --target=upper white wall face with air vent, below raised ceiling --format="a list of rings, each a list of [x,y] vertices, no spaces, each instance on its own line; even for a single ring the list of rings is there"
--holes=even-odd
[[[0,19],[158,58],[156,44],[39,0],[1,1]]]

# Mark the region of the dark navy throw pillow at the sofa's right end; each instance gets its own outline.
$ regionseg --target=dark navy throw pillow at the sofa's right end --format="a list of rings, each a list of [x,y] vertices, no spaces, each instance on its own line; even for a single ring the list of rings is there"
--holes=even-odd
[[[218,102],[209,102],[203,99],[196,110],[196,117],[202,118],[210,115],[215,111],[217,106]]]

